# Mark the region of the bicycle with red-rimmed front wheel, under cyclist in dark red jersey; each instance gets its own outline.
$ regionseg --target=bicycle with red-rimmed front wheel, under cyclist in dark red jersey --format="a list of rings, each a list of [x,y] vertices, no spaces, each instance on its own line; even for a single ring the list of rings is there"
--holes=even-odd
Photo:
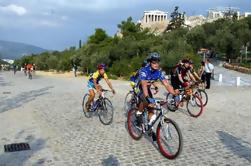
[[[179,108],[180,103],[186,101],[186,109],[190,116],[192,117],[199,117],[201,113],[203,112],[203,103],[201,100],[201,97],[198,95],[198,93],[193,92],[195,84],[191,85],[188,88],[180,88],[180,94],[178,96],[174,96],[171,93],[168,93],[166,96],[167,101],[167,108],[170,111],[176,111]],[[176,99],[175,99],[176,98]],[[177,101],[177,98],[179,100]]]

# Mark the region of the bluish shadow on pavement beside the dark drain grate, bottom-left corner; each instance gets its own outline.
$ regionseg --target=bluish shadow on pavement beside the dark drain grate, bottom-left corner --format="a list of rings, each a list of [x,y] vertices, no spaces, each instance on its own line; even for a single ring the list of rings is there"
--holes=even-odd
[[[44,139],[33,138],[28,142],[31,150],[2,153],[0,155],[0,165],[20,165],[20,166],[27,165],[25,164],[27,160],[29,160],[32,156],[34,156],[35,153],[43,149],[45,147],[45,142],[46,141]],[[34,163],[34,165],[45,164],[45,161],[46,158],[41,158],[36,163]]]

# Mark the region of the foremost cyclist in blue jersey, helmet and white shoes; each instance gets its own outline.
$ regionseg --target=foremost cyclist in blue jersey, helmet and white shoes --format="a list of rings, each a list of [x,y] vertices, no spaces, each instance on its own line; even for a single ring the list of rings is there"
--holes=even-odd
[[[137,122],[138,125],[142,123],[142,112],[146,107],[153,107],[154,105],[154,98],[151,93],[150,87],[152,81],[160,80],[162,84],[165,86],[166,90],[172,94],[176,94],[173,90],[173,87],[168,83],[165,79],[163,73],[159,69],[159,62],[160,62],[160,55],[157,52],[152,52],[149,54],[149,65],[142,67],[139,70],[139,89],[140,89],[140,103],[139,103],[139,111],[137,111]],[[149,125],[155,120],[156,115],[154,112],[149,109],[148,110],[148,120]],[[154,135],[153,135],[153,140]]]

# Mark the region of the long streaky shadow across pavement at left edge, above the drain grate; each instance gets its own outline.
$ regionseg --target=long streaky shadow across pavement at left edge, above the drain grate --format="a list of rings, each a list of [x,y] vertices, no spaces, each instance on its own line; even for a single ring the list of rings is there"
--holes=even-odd
[[[5,111],[8,111],[14,108],[18,108],[25,103],[35,100],[37,97],[49,93],[48,90],[51,88],[54,88],[54,87],[49,86],[49,87],[41,88],[38,90],[22,92],[13,98],[2,100],[0,101],[0,113],[3,113]]]

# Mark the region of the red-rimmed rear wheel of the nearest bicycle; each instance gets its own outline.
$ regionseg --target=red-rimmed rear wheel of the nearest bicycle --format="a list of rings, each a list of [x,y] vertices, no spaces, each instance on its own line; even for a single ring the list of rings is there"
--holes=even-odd
[[[135,139],[139,140],[142,137],[142,127],[138,127],[136,125],[137,118],[136,118],[136,112],[137,110],[135,108],[132,108],[128,111],[127,114],[127,128],[130,136]]]

